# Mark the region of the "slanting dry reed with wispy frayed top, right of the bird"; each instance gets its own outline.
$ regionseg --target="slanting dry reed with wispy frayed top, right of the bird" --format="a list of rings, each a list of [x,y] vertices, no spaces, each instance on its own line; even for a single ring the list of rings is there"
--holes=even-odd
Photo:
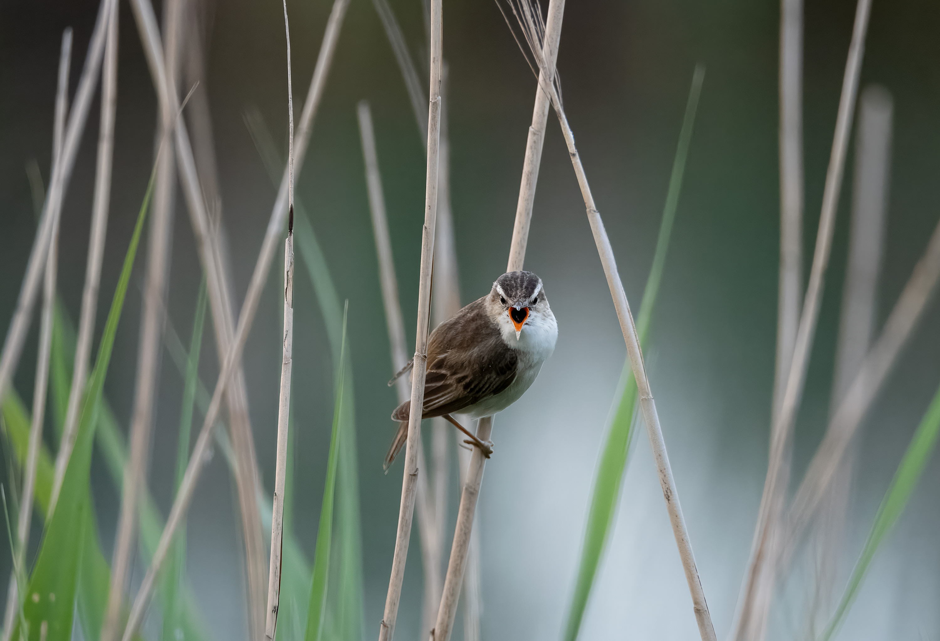
[[[603,265],[603,272],[607,279],[607,286],[610,289],[614,307],[617,310],[620,330],[623,333],[623,339],[627,346],[627,355],[630,358],[630,365],[633,369],[636,381],[640,409],[643,413],[643,419],[647,427],[647,435],[650,439],[650,449],[652,450],[653,459],[656,463],[656,470],[659,474],[659,482],[663,489],[663,496],[666,499],[666,510],[669,514],[669,522],[672,525],[672,533],[676,539],[676,545],[679,548],[679,555],[682,559],[682,569],[685,571],[685,580],[688,583],[689,592],[692,596],[698,632],[703,641],[714,641],[715,635],[712,616],[709,613],[708,604],[705,602],[705,593],[698,579],[695,555],[693,555],[692,552],[692,543],[689,540],[688,530],[685,527],[685,519],[682,516],[682,507],[679,503],[679,493],[676,490],[676,483],[672,477],[672,468],[669,465],[669,459],[666,454],[666,442],[663,439],[663,431],[660,428],[659,415],[656,413],[656,404],[652,397],[652,391],[650,390],[650,381],[646,375],[646,366],[643,363],[643,353],[640,350],[639,338],[636,336],[634,317],[630,311],[626,293],[623,290],[623,283],[620,282],[620,276],[617,271],[617,261],[614,258],[614,251],[610,245],[610,240],[607,238],[607,232],[603,227],[601,213],[594,204],[594,196],[591,194],[590,186],[587,183],[587,174],[585,173],[584,166],[581,164],[581,157],[578,155],[578,150],[574,146],[574,134],[568,123],[568,117],[565,115],[565,110],[561,103],[561,96],[558,92],[556,71],[547,64],[544,55],[542,55],[541,42],[543,34],[545,33],[545,27],[544,23],[542,23],[540,9],[538,6],[530,4],[529,0],[518,0],[515,4],[510,4],[510,7],[522,26],[523,37],[525,38],[528,52],[532,55],[540,70],[540,77],[554,78],[556,80],[556,82],[552,84],[540,83],[540,87],[549,94],[552,106],[555,108],[558,121],[561,124],[561,132],[564,134],[568,153],[572,159],[574,175],[578,180],[578,186],[581,188],[581,195],[584,198],[585,209],[587,210],[587,221],[590,224],[591,233],[594,236],[598,255]],[[520,47],[522,47],[522,43],[520,43]],[[438,618],[438,622],[440,622],[440,618]],[[440,639],[436,639],[435,641],[440,641]]]

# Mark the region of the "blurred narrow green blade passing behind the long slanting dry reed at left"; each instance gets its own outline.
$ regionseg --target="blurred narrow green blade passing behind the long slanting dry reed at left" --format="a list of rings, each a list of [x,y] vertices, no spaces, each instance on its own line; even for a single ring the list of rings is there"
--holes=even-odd
[[[193,336],[189,343],[189,357],[186,362],[186,379],[183,383],[182,409],[180,411],[180,435],[177,443],[176,485],[180,489],[182,477],[189,463],[189,441],[193,429],[193,406],[196,404],[196,381],[199,376],[199,353],[202,350],[202,330],[206,320],[206,303],[209,296],[206,291],[206,278],[199,284],[196,300],[196,318],[193,320]],[[164,602],[163,638],[164,641],[178,641],[182,633],[182,586],[186,572],[186,522],[183,521],[173,537],[173,550],[170,562],[164,570],[161,581]]]

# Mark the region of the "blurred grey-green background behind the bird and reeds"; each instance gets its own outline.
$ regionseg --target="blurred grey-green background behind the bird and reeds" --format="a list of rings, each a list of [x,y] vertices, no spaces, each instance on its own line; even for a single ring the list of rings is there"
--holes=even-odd
[[[289,2],[294,94],[304,96],[319,51],[327,0]],[[391,3],[413,54],[423,59],[418,0]],[[48,180],[59,39],[75,33],[72,91],[97,11],[88,0],[7,0],[0,7],[0,329],[20,283],[35,218],[24,171]],[[120,6],[115,175],[100,336],[120,261],[149,176],[156,101],[136,26]],[[160,15],[160,8],[157,8]],[[274,202],[274,189],[243,124],[257,106],[286,149],[283,14],[274,0],[211,7],[205,86],[211,102],[223,219],[241,299]],[[806,255],[815,240],[854,3],[807,3],[805,43]],[[715,628],[729,630],[766,469],[776,341],[779,197],[776,2],[569,3],[558,69],[587,176],[636,308],[650,267],[666,184],[697,62],[707,67],[673,242],[648,353],[666,445]],[[493,2],[444,3],[449,64],[452,204],[463,303],[485,294],[506,265],[536,82]],[[879,288],[879,323],[894,304],[940,214],[940,6],[875,2],[862,86],[894,97],[892,184]],[[382,457],[396,404],[378,268],[369,223],[355,103],[371,103],[410,347],[414,345],[424,156],[399,70],[375,10],[353,0],[317,117],[297,193],[311,211],[340,296],[349,299],[361,471],[367,633],[378,629],[399,511],[400,463]],[[298,101],[300,98],[298,98]],[[97,100],[96,103],[97,105]],[[93,106],[62,217],[59,289],[77,317],[84,281],[97,140]],[[828,414],[846,257],[852,155],[839,208],[832,267],[799,415],[795,475],[822,437]],[[180,199],[169,314],[188,336],[199,264]],[[143,252],[142,252],[143,254]],[[133,398],[138,258],[118,331],[106,396],[126,425]],[[807,260],[807,271],[808,271]],[[525,266],[539,274],[560,334],[555,355],[524,399],[496,418],[496,454],[480,498],[483,635],[544,639],[560,633],[583,536],[587,497],[625,350],[584,206],[554,117],[549,119]],[[276,272],[276,270],[273,270]],[[279,286],[272,276],[244,354],[252,424],[266,487],[274,481]],[[296,529],[308,555],[333,414],[321,315],[305,276],[295,293]],[[852,528],[839,581],[851,568],[910,436],[940,381],[940,310],[933,303],[903,352],[862,432]],[[35,325],[36,323],[34,323]],[[208,329],[207,332],[211,331]],[[29,399],[34,326],[16,377]],[[202,376],[217,356],[206,340]],[[181,381],[164,358],[149,482],[165,510]],[[589,603],[582,638],[688,639],[696,624],[645,432],[622,486],[616,529]],[[97,455],[96,455],[97,456]],[[110,551],[118,494],[93,467],[102,547]],[[940,634],[940,527],[933,461],[897,529],[875,558],[843,639],[921,639]],[[458,499],[452,489],[451,510]],[[189,519],[190,579],[218,639],[243,638],[243,568],[233,483],[216,457]],[[416,539],[416,534],[413,540]],[[449,550],[449,537],[446,541]],[[5,547],[8,550],[8,547]],[[8,553],[0,555],[6,576]],[[134,573],[139,581],[141,571]],[[413,546],[399,638],[414,637],[420,557]],[[838,585],[841,585],[838,584]],[[774,638],[801,633],[807,594],[788,592]],[[801,600],[802,599],[802,600]]]

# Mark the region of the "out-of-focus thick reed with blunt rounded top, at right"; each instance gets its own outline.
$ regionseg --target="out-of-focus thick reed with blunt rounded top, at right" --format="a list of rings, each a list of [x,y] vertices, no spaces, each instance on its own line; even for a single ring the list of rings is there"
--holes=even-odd
[[[855,134],[852,229],[842,309],[839,316],[836,373],[830,410],[852,383],[854,372],[869,351],[874,336],[878,276],[884,254],[885,214],[891,156],[891,95],[881,86],[865,89],[858,101]],[[833,477],[832,490],[816,522],[816,614],[828,620],[838,557],[846,531],[855,449],[850,449]],[[812,624],[812,616],[810,624]]]

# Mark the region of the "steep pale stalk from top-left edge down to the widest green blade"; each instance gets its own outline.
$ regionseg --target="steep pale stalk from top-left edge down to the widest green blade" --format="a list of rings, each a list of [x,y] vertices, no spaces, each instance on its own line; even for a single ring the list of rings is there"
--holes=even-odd
[[[95,169],[95,194],[92,201],[91,232],[88,238],[88,258],[85,269],[85,288],[82,291],[82,310],[78,324],[78,342],[69,390],[64,433],[77,429],[78,413],[88,374],[91,341],[95,332],[98,311],[98,291],[101,287],[104,239],[108,227],[108,207],[111,201],[111,168],[114,159],[115,112],[118,101],[118,3],[108,24],[102,70],[102,115],[98,137],[98,159]],[[57,461],[56,461],[57,462]]]

